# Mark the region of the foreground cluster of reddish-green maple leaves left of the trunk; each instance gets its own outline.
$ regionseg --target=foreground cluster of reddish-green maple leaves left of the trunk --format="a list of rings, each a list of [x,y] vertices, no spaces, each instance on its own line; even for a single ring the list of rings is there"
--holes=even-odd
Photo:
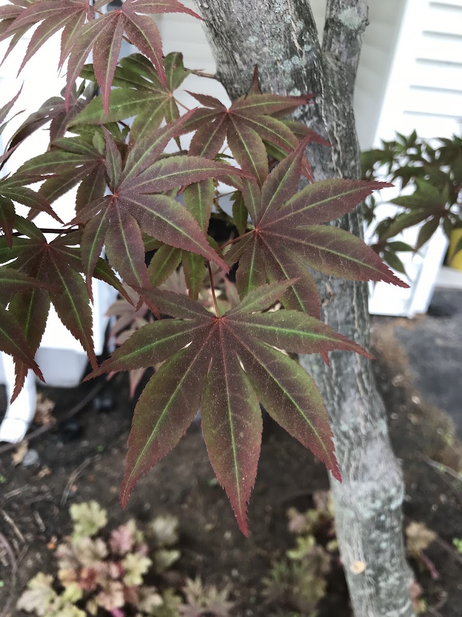
[[[247,534],[262,432],[259,402],[341,479],[320,394],[288,352],[320,353],[326,361],[334,349],[370,357],[319,321],[320,299],[308,268],[405,286],[362,240],[325,225],[390,185],[326,180],[298,191],[301,176],[312,182],[309,143],[326,142],[284,118],[313,94],[261,93],[256,71],[248,94],[229,109],[195,93],[201,107],[180,115],[174,91],[190,71],[181,54],[163,58],[152,15],[200,17],[177,0],[126,0],[120,10],[102,12],[106,4],[13,0],[0,7],[7,53],[38,25],[20,68],[59,30],[59,67],[67,63],[63,97],[27,118],[2,155],[4,163],[30,133],[51,123],[47,152],[0,181],[0,257],[7,263],[0,269],[0,348],[16,363],[15,397],[29,369],[41,376],[34,354],[53,304],[86,350],[90,377],[161,364],[136,406],[122,504],[200,407],[211,463]],[[119,60],[123,38],[140,53]],[[84,65],[91,51],[94,64]],[[76,84],[79,76],[84,82]],[[101,94],[93,97],[96,84]],[[0,122],[14,102],[2,108]],[[133,116],[131,126],[124,122]],[[193,137],[185,151],[180,136],[187,133]],[[232,157],[222,151],[225,139]],[[166,154],[171,140],[176,154]],[[38,181],[38,191],[28,188]],[[239,234],[221,247],[208,236],[211,219],[221,216],[214,208],[217,181],[232,187]],[[52,203],[76,185],[75,215],[62,222]],[[15,203],[30,208],[28,217],[16,213]],[[39,211],[63,226],[39,229],[33,223]],[[107,260],[100,257],[103,248]],[[188,296],[159,289],[180,263]],[[219,268],[223,278],[235,264],[240,303],[222,314],[213,275]],[[113,285],[134,307],[144,302],[156,317],[99,368],[91,336],[92,277]],[[204,284],[214,300],[209,310],[198,302]],[[281,309],[274,310],[278,303]]]

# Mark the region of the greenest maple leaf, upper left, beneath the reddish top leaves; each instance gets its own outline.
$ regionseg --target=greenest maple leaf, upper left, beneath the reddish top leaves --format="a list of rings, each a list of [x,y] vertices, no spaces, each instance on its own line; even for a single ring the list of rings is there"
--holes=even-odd
[[[122,58],[115,70],[108,114],[103,108],[102,96],[97,96],[71,120],[69,126],[100,125],[135,116],[130,129],[130,140],[133,142],[156,130],[164,118],[166,122],[174,122],[180,116],[174,91],[190,71],[185,70],[183,56],[178,52],[168,54],[164,66],[165,85],[161,83],[152,62],[141,54]],[[81,77],[96,81],[93,65],[86,65]]]

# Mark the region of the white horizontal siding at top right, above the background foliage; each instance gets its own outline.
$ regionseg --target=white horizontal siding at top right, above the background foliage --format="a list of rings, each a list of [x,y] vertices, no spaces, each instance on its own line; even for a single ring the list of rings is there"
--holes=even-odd
[[[375,135],[462,130],[462,0],[408,0]]]

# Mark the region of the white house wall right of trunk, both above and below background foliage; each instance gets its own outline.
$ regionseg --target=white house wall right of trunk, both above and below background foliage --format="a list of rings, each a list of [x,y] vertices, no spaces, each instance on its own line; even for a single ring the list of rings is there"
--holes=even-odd
[[[413,130],[426,139],[462,130],[462,0],[407,0],[373,143]],[[383,218],[395,212],[383,205],[377,213]],[[418,231],[405,231],[403,240],[413,244]],[[418,255],[402,254],[411,289],[377,284],[370,311],[408,317],[426,312],[446,250],[438,230]]]

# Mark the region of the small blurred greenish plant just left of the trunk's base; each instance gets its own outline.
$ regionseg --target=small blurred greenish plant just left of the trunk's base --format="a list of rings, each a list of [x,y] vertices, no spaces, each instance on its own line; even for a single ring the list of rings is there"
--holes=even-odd
[[[316,492],[314,497],[316,508],[305,513],[296,508],[288,510],[288,528],[296,534],[295,546],[262,581],[274,617],[316,617],[317,604],[326,594],[326,575],[337,549],[333,509],[328,492]],[[321,537],[324,544],[318,541]]]

